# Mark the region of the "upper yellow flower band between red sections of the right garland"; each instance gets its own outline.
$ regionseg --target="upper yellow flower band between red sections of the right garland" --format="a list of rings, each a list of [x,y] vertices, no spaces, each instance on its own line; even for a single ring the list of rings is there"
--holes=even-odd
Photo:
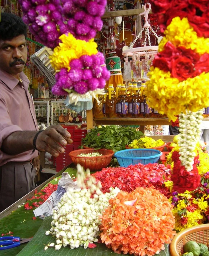
[[[186,49],[192,49],[199,54],[209,53],[209,38],[198,37],[187,18],[182,18],[182,20],[180,17],[173,18],[164,34],[165,37],[159,44],[159,52],[170,41],[176,47],[184,46]]]

